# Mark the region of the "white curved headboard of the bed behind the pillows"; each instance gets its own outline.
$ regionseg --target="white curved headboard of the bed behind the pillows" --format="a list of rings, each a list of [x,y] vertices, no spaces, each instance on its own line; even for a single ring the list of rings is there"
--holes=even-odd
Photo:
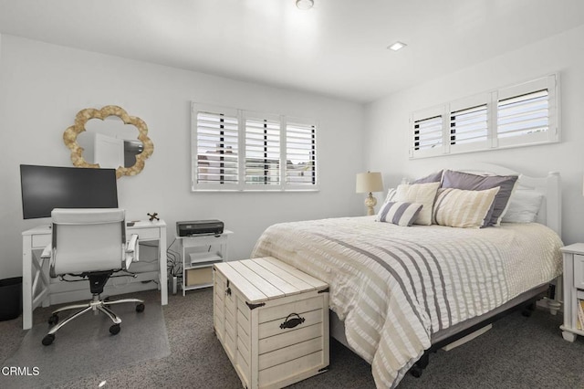
[[[546,225],[556,231],[561,237],[562,228],[562,208],[561,208],[561,184],[558,172],[549,172],[545,177],[530,177],[514,170],[508,169],[492,163],[471,163],[464,167],[450,168],[467,173],[489,173],[496,175],[518,175],[517,189],[533,190],[544,195],[539,212],[537,212],[537,223]]]

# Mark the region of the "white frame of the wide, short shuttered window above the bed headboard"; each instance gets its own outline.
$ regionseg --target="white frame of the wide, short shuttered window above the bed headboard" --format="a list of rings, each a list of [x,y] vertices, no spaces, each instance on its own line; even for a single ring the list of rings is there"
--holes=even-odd
[[[547,119],[547,130],[518,134],[516,136],[499,136],[499,103],[504,100],[535,94],[544,89],[547,90],[547,116],[544,117]],[[486,107],[485,138],[477,138],[476,142],[453,144],[451,141],[453,136],[451,123],[454,113],[483,106]],[[443,103],[431,109],[417,110],[412,112],[410,116],[409,156],[410,159],[420,159],[464,152],[484,152],[560,142],[559,108],[559,74],[554,73],[510,87],[494,89],[464,99]],[[416,148],[416,123],[437,116],[436,112],[442,112],[442,144],[429,150],[419,150]]]

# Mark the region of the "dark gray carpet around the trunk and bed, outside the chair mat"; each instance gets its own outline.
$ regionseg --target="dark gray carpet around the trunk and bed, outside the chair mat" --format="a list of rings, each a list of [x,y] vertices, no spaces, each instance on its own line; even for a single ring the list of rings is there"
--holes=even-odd
[[[157,291],[135,295],[158,298]],[[89,373],[50,386],[97,388],[106,381],[106,388],[241,388],[214,336],[212,299],[211,289],[169,297],[169,305],[162,307],[171,347],[167,357],[120,366],[106,373]],[[39,317],[37,312],[35,321]],[[399,389],[584,388],[584,338],[579,337],[574,343],[564,341],[560,324],[560,316],[551,316],[543,310],[536,310],[530,318],[519,312],[511,314],[473,342],[431,355],[422,377],[406,375]],[[26,332],[20,330],[20,325],[20,320],[0,322],[0,360],[14,352],[24,338]],[[68,367],[57,369],[63,371]],[[5,387],[3,380],[5,377],[0,375],[0,387]],[[333,340],[328,372],[291,387],[372,389],[375,384],[370,365]]]

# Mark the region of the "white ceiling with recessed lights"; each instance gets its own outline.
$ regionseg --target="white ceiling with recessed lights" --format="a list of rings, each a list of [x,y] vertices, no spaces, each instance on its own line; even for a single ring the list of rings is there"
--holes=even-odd
[[[0,33],[366,102],[584,24],[583,0],[314,1],[0,0]]]

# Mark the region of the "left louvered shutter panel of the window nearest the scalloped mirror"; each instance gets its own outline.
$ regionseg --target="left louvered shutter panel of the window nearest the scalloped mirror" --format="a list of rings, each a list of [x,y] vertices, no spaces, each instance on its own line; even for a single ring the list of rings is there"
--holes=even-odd
[[[239,119],[236,110],[197,110],[195,185],[239,184]]]

